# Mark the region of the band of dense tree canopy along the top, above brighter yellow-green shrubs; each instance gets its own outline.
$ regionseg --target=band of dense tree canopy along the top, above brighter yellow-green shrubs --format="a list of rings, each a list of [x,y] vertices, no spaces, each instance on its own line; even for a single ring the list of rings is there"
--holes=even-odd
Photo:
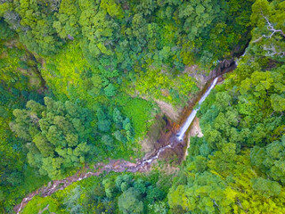
[[[87,58],[102,67],[109,62],[110,70],[130,71],[148,61],[180,70],[196,57],[207,65],[245,45],[252,3],[25,0],[4,1],[1,14],[37,53],[56,53],[80,37]]]

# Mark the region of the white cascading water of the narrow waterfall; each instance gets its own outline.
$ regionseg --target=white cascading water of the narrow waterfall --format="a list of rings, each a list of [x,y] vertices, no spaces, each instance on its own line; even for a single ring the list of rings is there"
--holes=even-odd
[[[214,88],[214,86],[216,86],[216,81],[217,81],[217,78],[214,79],[211,86],[208,88],[207,92],[204,95],[202,95],[202,97],[199,99],[199,105],[204,102],[206,97],[210,94],[211,90]],[[184,134],[187,131],[187,129],[190,127],[193,119],[195,119],[197,111],[199,111],[199,107],[197,109],[194,109],[193,111],[191,111],[191,114],[186,119],[185,123],[183,124],[183,127],[177,133],[176,137],[179,141],[183,140]]]

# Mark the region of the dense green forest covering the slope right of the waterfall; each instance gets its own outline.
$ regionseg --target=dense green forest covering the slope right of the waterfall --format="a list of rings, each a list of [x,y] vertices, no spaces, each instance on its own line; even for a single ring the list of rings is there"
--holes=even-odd
[[[173,213],[285,212],[285,67],[278,51],[284,51],[284,19],[276,19],[284,5],[253,4],[254,39],[238,68],[201,105],[204,136],[191,138],[168,193]]]

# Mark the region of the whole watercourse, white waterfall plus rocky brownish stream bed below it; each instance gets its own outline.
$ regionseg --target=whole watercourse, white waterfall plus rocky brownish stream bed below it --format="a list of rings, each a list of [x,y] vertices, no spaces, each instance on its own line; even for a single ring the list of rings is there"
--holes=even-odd
[[[232,68],[232,64],[230,67]],[[230,70],[232,71],[232,69],[230,69]],[[228,68],[225,68],[224,70],[222,70],[220,72],[221,72],[221,74],[224,74],[226,72],[229,72],[230,70]],[[199,102],[197,103],[198,105],[200,105],[201,103],[203,103],[205,101],[207,96],[210,94],[211,90],[216,86],[217,80],[218,80],[218,77],[216,77],[212,80],[212,82],[210,83],[210,86],[206,89],[206,92],[203,95],[201,95],[201,97],[199,98]],[[202,91],[204,91],[204,90],[202,90]],[[183,142],[183,137],[184,137],[185,133],[187,132],[188,128],[191,126],[192,120],[195,119],[197,111],[199,111],[199,107],[197,109],[193,109],[191,111],[190,115],[187,117],[186,121],[183,123],[180,130],[175,134],[175,136],[172,135],[168,138],[167,145],[159,148],[159,150],[157,150],[150,158],[148,158],[146,160],[142,160],[142,161],[137,161],[136,163],[132,163],[129,161],[124,161],[124,160],[110,160],[110,162],[108,164],[104,164],[104,163],[96,164],[96,167],[94,167],[93,170],[87,171],[83,174],[77,173],[74,176],[66,177],[62,180],[54,180],[54,181],[50,182],[48,185],[43,186],[40,189],[37,189],[35,192],[29,193],[28,196],[25,197],[20,204],[17,204],[14,207],[15,212],[17,214],[20,214],[20,211],[25,207],[25,205],[29,201],[31,201],[33,199],[33,197],[35,195],[40,194],[43,197],[49,196],[52,193],[54,193],[58,190],[62,190],[65,187],[71,185],[72,183],[80,181],[80,180],[85,179],[87,177],[93,177],[93,176],[98,177],[103,172],[108,173],[110,171],[114,171],[114,172],[127,171],[127,172],[134,173],[137,171],[143,172],[143,171],[151,169],[151,163],[153,161],[156,161],[157,159],[159,159],[159,155],[161,153],[165,152],[167,149],[172,149],[175,146],[177,146],[177,144],[181,144],[181,142]]]

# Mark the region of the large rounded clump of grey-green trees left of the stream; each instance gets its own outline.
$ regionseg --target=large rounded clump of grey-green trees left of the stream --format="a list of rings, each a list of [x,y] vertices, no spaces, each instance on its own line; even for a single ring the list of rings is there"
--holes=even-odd
[[[86,143],[92,119],[85,109],[49,97],[45,97],[45,105],[29,101],[26,107],[13,111],[12,130],[26,141],[31,166],[55,178],[85,162],[85,156],[92,152]]]

